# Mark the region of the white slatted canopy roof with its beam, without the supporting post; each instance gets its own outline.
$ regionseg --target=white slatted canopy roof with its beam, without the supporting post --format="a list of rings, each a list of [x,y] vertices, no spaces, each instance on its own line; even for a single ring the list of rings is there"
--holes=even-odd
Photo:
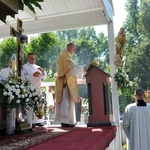
[[[44,0],[43,10],[36,14],[25,7],[14,18],[7,16],[7,24],[0,21],[0,38],[10,36],[10,26],[16,28],[16,19],[23,21],[25,34],[36,34],[78,27],[103,25],[111,22],[112,0]]]

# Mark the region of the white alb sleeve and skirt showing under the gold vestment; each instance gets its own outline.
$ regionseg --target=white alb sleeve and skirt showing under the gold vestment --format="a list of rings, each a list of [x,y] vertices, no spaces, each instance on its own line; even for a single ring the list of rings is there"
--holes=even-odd
[[[69,75],[81,78],[84,74],[83,66],[75,66],[69,70]],[[57,123],[65,124],[75,124],[76,123],[76,113],[75,113],[75,103],[71,100],[69,96],[68,87],[63,89],[62,101],[56,104],[55,111],[55,121]]]

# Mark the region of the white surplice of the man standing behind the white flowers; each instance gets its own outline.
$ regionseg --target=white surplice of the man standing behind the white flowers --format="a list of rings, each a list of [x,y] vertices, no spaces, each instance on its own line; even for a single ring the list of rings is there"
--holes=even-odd
[[[26,63],[25,65],[23,65],[23,70],[22,70],[22,78],[28,78],[31,83],[37,88],[37,91],[39,93],[39,95],[41,95],[42,91],[41,91],[41,79],[46,77],[46,72],[44,71],[43,73],[41,73],[39,75],[39,77],[34,77],[33,74],[38,71],[38,68],[40,68],[40,66],[36,65],[36,64],[30,64],[30,63]],[[31,118],[32,117],[32,111],[28,111],[27,112],[27,118]],[[32,119],[32,123],[42,123],[44,122],[44,119],[38,119],[35,114],[33,116]]]

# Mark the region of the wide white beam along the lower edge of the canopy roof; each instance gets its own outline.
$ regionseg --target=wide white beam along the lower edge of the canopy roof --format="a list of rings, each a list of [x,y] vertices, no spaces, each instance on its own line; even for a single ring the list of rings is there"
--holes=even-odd
[[[24,32],[28,35],[107,24],[108,20],[102,12],[102,10],[97,10],[88,13],[71,14],[63,17],[38,19],[35,21],[31,20],[23,23]],[[11,26],[15,25],[16,24],[12,24]],[[0,26],[0,38],[10,36],[9,28],[9,25]]]

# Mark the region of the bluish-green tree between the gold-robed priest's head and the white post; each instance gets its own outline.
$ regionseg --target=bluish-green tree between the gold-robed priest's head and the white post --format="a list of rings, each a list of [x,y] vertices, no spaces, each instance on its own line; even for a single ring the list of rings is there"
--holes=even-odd
[[[57,35],[66,42],[73,41],[77,48],[74,60],[79,65],[86,65],[99,60],[102,69],[109,63],[108,39],[103,33],[96,35],[92,27],[58,31]]]

